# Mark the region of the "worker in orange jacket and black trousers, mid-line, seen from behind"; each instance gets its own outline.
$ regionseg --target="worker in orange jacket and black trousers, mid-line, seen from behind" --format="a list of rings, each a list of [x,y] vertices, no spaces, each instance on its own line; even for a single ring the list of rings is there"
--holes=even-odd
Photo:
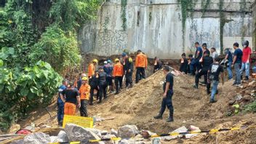
[[[119,94],[119,90],[122,88],[123,85],[123,76],[124,76],[124,66],[121,65],[118,58],[115,59],[115,65],[113,65],[113,77],[115,79],[116,85],[116,93],[115,95]]]

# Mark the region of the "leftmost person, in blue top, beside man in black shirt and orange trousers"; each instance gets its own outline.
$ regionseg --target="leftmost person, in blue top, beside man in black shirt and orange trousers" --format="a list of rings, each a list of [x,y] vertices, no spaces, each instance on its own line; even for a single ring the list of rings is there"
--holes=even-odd
[[[64,117],[64,105],[63,100],[61,100],[60,94],[63,92],[64,89],[67,88],[68,81],[63,80],[63,84],[59,87],[58,90],[58,97],[57,97],[57,123],[58,125],[63,125],[63,117]]]

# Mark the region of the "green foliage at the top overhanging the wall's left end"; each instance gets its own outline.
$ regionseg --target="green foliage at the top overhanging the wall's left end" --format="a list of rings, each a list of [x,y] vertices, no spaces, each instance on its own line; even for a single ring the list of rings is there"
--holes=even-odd
[[[49,16],[64,31],[74,31],[87,20],[96,18],[102,0],[55,0]]]

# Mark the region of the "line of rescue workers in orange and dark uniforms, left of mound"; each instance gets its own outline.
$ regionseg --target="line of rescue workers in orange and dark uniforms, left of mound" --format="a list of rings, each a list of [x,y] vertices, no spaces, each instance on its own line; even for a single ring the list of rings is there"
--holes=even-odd
[[[122,89],[133,87],[134,63],[129,53],[124,52],[121,58],[116,58],[113,62],[110,59],[105,60],[104,65],[99,66],[98,60],[94,59],[88,66],[88,73],[80,73],[76,81],[69,81],[68,77],[63,80],[57,100],[59,125],[63,123],[64,114],[75,115],[77,110],[80,110],[80,116],[87,117],[87,104],[93,105],[95,96],[97,103],[102,103],[103,98],[106,99],[109,94],[117,95]],[[135,83],[145,79],[147,67],[147,56],[138,50],[135,58]],[[156,67],[153,71],[159,69],[160,61],[156,57]]]

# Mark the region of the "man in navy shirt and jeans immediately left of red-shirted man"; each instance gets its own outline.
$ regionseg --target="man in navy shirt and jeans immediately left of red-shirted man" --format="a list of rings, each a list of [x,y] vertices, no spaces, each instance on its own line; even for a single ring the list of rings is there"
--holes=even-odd
[[[233,83],[234,86],[240,86],[241,85],[241,73],[240,73],[240,68],[241,68],[241,57],[243,56],[243,52],[241,49],[239,49],[239,43],[234,43],[233,44],[233,49],[235,49],[235,52],[233,52],[233,63],[232,65],[235,68],[235,73],[236,73],[236,79]]]

